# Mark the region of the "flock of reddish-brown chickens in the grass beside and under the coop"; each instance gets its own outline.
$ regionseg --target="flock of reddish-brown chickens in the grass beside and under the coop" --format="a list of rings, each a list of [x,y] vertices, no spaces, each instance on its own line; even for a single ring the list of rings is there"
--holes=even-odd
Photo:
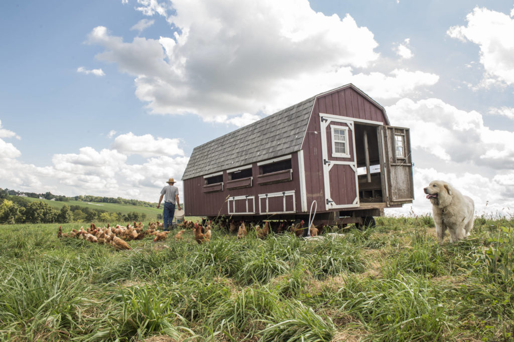
[[[287,221],[282,222],[270,222],[265,221],[264,226],[261,228],[259,224],[250,225],[255,230],[257,237],[265,238],[270,232],[277,232],[278,234],[289,231],[292,234],[295,234],[297,237],[301,237],[304,235],[305,228],[303,224],[305,222],[301,220],[297,223],[292,223],[289,225]],[[237,230],[237,238],[242,239],[248,235],[248,229],[246,228],[246,224],[244,221],[230,221],[230,222],[219,222],[219,225],[222,229],[226,229],[228,226],[228,231],[230,233],[236,233]],[[193,221],[185,221],[181,224],[181,226],[185,229],[180,230],[175,235],[175,240],[182,240],[182,234],[188,230],[193,231],[194,240],[197,243],[205,243],[211,240],[211,230],[212,230],[212,221],[209,221],[208,224],[204,227],[198,222],[194,223]],[[143,224],[141,222],[134,222],[133,225],[127,224],[126,226],[122,226],[117,224],[116,227],[112,227],[109,224],[105,227],[97,227],[94,223],[91,223],[90,226],[84,230],[84,227],[80,227],[79,230],[72,229],[69,233],[62,232],[62,226],[59,226],[59,232],[57,233],[57,237],[62,238],[77,238],[82,240],[87,240],[89,242],[95,242],[100,244],[111,244],[115,249],[118,250],[130,250],[131,247],[128,245],[126,241],[130,240],[141,240],[145,236],[154,236],[154,242],[160,240],[166,240],[168,238],[169,231],[160,231],[160,229],[164,229],[164,224],[157,222],[149,222],[148,229],[144,229]],[[310,226],[310,236],[318,235],[318,228],[314,225]]]

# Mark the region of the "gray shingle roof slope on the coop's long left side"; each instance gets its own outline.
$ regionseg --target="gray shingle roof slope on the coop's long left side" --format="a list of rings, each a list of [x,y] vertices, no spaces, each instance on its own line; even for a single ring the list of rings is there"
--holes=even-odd
[[[316,97],[193,149],[182,180],[300,150]]]

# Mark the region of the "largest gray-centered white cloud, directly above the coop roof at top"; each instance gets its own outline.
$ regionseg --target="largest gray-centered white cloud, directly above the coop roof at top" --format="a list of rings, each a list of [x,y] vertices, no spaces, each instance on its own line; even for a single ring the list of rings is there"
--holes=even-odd
[[[345,80],[336,79],[339,70],[369,66],[379,56],[368,28],[350,15],[317,13],[306,0],[179,0],[173,6],[168,21],[179,33],[171,37],[124,42],[105,27],[88,37],[90,44],[104,47],[98,59],[136,76],[136,96],[155,113],[204,118],[255,113],[286,84],[296,87],[286,88],[284,99],[297,93],[295,101],[301,101],[299,93],[309,97],[327,89],[312,83],[331,77],[328,86],[343,85]],[[146,14],[163,15],[156,2],[143,7]]]

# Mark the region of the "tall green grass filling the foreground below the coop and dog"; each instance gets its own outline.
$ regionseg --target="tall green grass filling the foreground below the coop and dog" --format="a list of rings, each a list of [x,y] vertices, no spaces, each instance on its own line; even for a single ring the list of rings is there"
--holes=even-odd
[[[512,340],[512,219],[458,243],[430,217],[379,218],[336,238],[237,240],[217,227],[115,251],[0,226],[1,340]],[[63,232],[80,224],[63,225]]]

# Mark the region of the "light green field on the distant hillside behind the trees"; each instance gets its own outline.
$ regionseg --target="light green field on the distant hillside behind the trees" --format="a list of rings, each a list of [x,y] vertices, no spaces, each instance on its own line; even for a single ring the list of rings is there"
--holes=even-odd
[[[162,214],[162,207],[157,209],[156,207],[148,207],[148,206],[138,206],[138,205],[130,205],[130,204],[118,204],[118,203],[94,203],[94,202],[82,202],[82,201],[68,201],[68,202],[60,202],[60,201],[50,201],[46,199],[38,199],[31,197],[24,197],[25,199],[35,202],[41,201],[47,203],[51,207],[60,209],[63,205],[79,205],[83,207],[88,207],[90,209],[101,209],[111,213],[121,213],[126,215],[130,212],[144,213],[146,214],[146,219],[150,221],[155,221],[157,218],[157,214]]]

